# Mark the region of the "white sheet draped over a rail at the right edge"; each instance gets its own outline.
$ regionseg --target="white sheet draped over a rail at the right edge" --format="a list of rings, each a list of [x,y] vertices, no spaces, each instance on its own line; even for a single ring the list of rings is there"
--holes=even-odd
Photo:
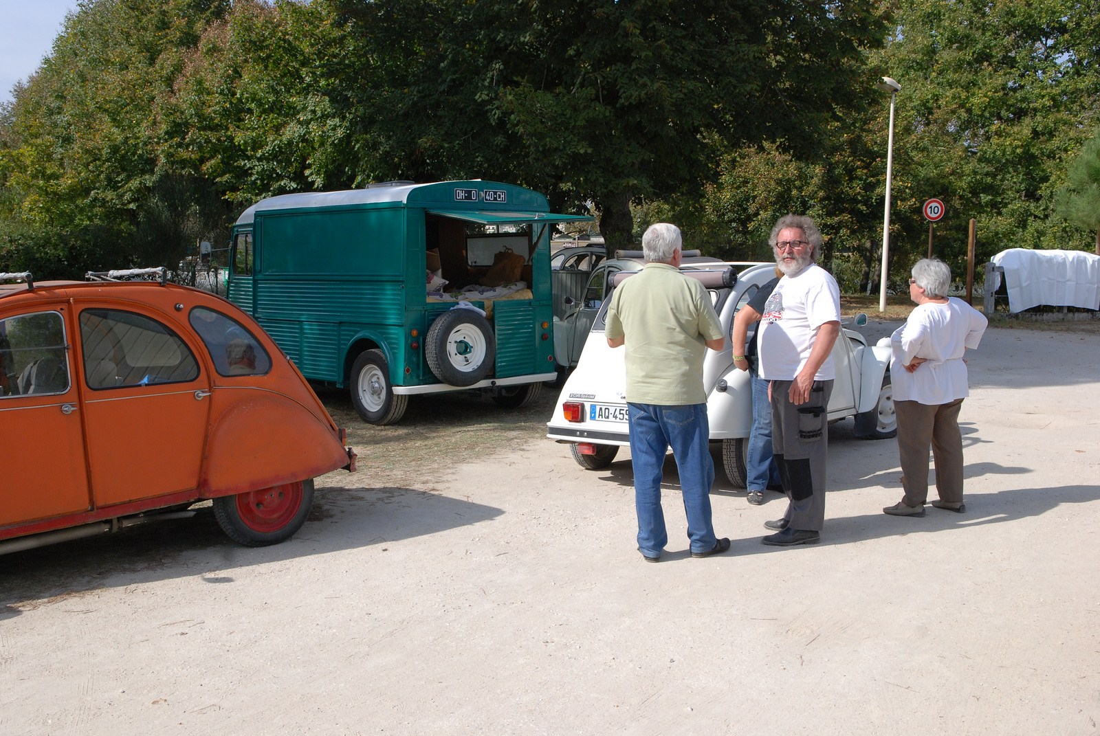
[[[994,255],[993,263],[1004,268],[1009,311],[1041,305],[1100,309],[1100,255],[1012,248]]]

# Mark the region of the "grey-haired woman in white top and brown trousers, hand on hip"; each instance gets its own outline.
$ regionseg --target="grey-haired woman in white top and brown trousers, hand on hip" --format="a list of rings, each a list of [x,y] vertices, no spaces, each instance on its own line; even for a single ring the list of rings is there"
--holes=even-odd
[[[916,308],[890,338],[890,381],[905,495],[882,510],[891,516],[924,516],[931,444],[939,494],[932,505],[963,513],[958,417],[963,399],[970,394],[963,354],[978,347],[988,320],[966,301],[947,296],[952,272],[943,261],[919,261],[912,274],[909,296]]]

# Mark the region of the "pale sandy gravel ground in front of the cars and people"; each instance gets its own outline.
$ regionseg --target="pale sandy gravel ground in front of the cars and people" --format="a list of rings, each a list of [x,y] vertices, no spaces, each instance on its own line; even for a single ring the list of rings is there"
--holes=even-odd
[[[760,545],[783,502],[719,472],[733,549],[691,559],[669,472],[672,540],[642,562],[627,453],[580,469],[548,396],[496,437],[499,409],[460,405],[453,455],[438,417],[376,435],[278,547],[200,514],[0,557],[0,730],[1098,733],[1098,348],[987,333],[965,515],[884,516],[897,444],[834,426],[817,547]]]

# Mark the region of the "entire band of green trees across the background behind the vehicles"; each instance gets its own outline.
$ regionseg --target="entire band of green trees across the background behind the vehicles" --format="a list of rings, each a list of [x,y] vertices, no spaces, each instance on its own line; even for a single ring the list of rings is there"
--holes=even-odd
[[[846,290],[877,290],[882,74],[902,85],[889,286],[926,251],[930,197],[957,277],[971,218],[979,263],[1091,250],[1070,202],[1096,177],[1066,172],[1100,121],[1098,18],[1093,0],[81,0],[0,110],[0,270],[174,267],[265,196],[485,178],[591,206],[612,249],[670,220],[689,248],[769,260],[774,220],[809,213]]]

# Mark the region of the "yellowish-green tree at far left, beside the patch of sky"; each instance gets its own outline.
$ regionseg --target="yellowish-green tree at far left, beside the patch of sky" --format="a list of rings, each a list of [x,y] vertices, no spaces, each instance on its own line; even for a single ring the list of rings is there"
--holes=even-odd
[[[45,273],[65,276],[176,266],[194,243],[179,224],[202,210],[197,202],[209,193],[189,179],[193,194],[178,196],[185,180],[163,166],[151,113],[186,50],[228,7],[229,0],[85,0],[67,17],[4,121],[7,257],[41,264],[59,248],[62,257]]]

